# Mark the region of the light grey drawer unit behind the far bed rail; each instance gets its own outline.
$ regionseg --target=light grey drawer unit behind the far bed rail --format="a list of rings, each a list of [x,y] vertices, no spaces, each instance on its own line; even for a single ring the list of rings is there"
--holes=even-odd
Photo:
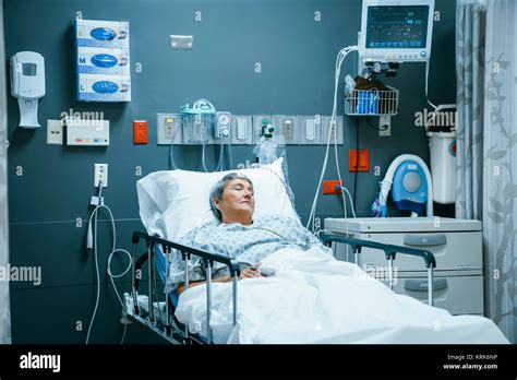
[[[483,256],[479,221],[442,217],[326,218],[335,234],[387,245],[425,249],[436,259],[434,306],[453,314],[483,314]],[[336,257],[353,261],[351,249],[335,245]],[[370,274],[386,273],[384,252],[363,248],[358,264]],[[397,253],[394,290],[426,302],[428,275],[422,258]],[[383,275],[383,277],[386,277]],[[381,281],[383,278],[380,278]],[[387,285],[387,281],[385,281]]]

